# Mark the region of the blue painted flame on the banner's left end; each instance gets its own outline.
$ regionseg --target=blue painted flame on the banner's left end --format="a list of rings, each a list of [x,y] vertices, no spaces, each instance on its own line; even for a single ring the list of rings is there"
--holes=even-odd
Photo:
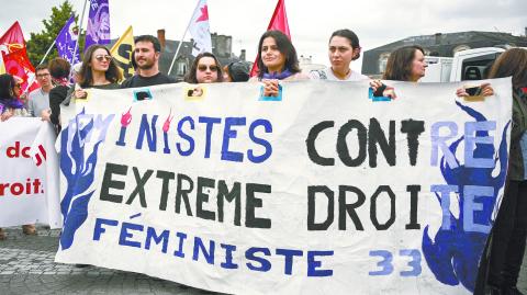
[[[88,117],[82,111],[69,122],[60,134],[60,171],[67,181],[66,193],[60,202],[60,212],[64,217],[64,228],[60,235],[60,248],[67,250],[71,247],[75,232],[88,217],[88,203],[93,190],[89,191],[93,183],[97,166],[97,151],[99,145],[104,141],[108,126],[114,115],[108,120],[91,120],[83,126],[79,117]],[[98,137],[94,137],[97,134]],[[93,137],[93,138],[92,138]],[[91,154],[86,145],[96,139]]]

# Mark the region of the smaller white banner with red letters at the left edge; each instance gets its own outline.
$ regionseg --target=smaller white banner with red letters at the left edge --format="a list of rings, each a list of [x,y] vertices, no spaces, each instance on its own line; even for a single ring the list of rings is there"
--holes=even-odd
[[[0,227],[61,227],[54,143],[52,125],[40,118],[0,122]]]

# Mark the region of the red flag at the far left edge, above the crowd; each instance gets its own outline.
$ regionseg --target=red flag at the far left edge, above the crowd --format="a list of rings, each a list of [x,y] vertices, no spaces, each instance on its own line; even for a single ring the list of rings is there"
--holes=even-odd
[[[0,52],[2,53],[5,72],[18,76],[24,80],[22,90],[27,91],[36,89],[35,68],[31,65],[27,52],[25,50],[24,35],[19,22],[13,25],[0,37]],[[31,84],[31,87],[27,87]]]

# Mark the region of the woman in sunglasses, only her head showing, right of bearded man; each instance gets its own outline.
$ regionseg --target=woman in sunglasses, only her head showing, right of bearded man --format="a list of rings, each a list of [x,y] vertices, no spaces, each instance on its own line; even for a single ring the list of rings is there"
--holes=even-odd
[[[193,84],[223,82],[222,66],[216,56],[211,53],[199,54],[184,81]]]

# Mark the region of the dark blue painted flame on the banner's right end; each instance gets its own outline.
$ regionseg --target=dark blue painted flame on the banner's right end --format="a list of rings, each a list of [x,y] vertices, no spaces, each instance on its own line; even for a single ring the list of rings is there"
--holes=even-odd
[[[462,105],[459,102],[456,104],[473,117],[476,122],[486,122],[486,118],[475,110]],[[478,262],[483,252],[486,232],[466,231],[463,229],[463,189],[466,185],[482,185],[494,188],[494,195],[485,198],[487,202],[485,209],[478,212],[478,220],[480,224],[492,226],[492,213],[497,202],[497,193],[505,183],[505,175],[507,171],[507,143],[506,134],[511,122],[508,122],[502,132],[502,141],[497,155],[492,144],[475,144],[475,158],[494,158],[494,166],[491,168],[472,168],[461,164],[458,159],[457,168],[450,166],[441,158],[440,170],[441,174],[449,185],[457,185],[459,188],[458,204],[460,207],[459,218],[456,218],[450,211],[450,227],[447,229],[440,228],[434,240],[428,235],[428,226],[425,227],[423,234],[423,254],[426,262],[434,273],[436,279],[447,285],[462,284],[470,292],[474,291],[475,276],[478,274]],[[478,131],[476,136],[487,136],[486,131]],[[449,146],[449,149],[456,155],[459,144],[464,140],[463,136],[457,139]],[[498,173],[496,177],[492,175],[492,171],[500,161]],[[441,202],[441,197],[436,193],[436,196]],[[448,218],[448,216],[447,216]]]

